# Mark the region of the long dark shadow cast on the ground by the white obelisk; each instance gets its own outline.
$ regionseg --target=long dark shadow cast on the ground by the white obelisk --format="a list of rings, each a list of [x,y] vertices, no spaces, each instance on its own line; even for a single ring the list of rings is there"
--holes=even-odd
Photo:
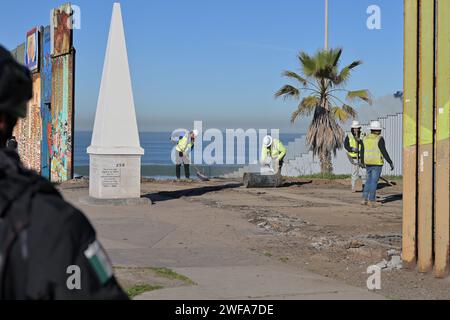
[[[150,199],[152,203],[158,203],[163,201],[176,200],[182,197],[199,197],[210,192],[217,192],[226,189],[236,189],[241,186],[241,183],[229,183],[219,186],[206,186],[176,191],[161,191],[157,193],[146,194],[144,197]]]

